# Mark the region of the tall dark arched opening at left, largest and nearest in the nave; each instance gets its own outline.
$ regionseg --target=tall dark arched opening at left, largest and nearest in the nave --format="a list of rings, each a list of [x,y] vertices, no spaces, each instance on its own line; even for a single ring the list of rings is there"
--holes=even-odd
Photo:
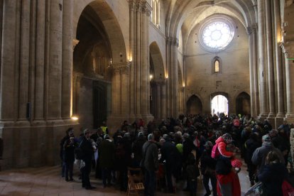
[[[93,6],[85,7],[77,23],[72,81],[72,114],[89,129],[97,129],[111,114],[111,44]]]

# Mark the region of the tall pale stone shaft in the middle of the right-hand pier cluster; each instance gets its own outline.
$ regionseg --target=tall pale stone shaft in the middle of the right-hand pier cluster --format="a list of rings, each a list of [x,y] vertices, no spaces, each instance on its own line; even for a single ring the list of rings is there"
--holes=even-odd
[[[266,56],[268,68],[268,118],[276,116],[275,81],[273,70],[273,28],[272,28],[271,1],[266,1]]]

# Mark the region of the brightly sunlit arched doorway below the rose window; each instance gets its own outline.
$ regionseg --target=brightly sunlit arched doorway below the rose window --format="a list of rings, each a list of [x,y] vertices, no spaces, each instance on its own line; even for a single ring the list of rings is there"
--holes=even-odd
[[[229,105],[228,105],[228,99],[227,97],[224,97],[223,95],[217,95],[214,96],[212,99],[212,115],[217,114],[217,116],[220,113],[224,113],[227,115],[229,113]]]

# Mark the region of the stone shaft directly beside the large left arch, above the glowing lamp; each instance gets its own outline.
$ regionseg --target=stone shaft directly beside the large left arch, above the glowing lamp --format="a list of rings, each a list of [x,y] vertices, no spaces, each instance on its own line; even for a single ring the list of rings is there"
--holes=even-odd
[[[62,15],[62,119],[70,119],[70,104],[72,90],[72,17],[73,0],[63,2]]]

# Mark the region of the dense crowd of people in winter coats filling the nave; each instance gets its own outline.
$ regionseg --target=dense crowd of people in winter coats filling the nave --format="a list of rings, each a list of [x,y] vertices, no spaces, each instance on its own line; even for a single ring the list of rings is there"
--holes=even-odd
[[[273,129],[267,120],[222,113],[180,115],[148,124],[142,119],[133,124],[124,121],[112,136],[105,122],[97,130],[83,130],[80,137],[70,128],[60,142],[62,177],[72,181],[77,164],[85,189],[95,188],[89,180],[94,169],[104,187],[116,184],[126,191],[132,167],[143,170],[145,195],[155,195],[156,190],[175,193],[179,181],[196,195],[201,175],[205,195],[237,196],[241,195],[238,173],[246,163],[251,185],[261,181],[268,195],[283,195],[288,164],[293,168],[291,128],[287,121]],[[77,149],[82,152],[79,160]]]

